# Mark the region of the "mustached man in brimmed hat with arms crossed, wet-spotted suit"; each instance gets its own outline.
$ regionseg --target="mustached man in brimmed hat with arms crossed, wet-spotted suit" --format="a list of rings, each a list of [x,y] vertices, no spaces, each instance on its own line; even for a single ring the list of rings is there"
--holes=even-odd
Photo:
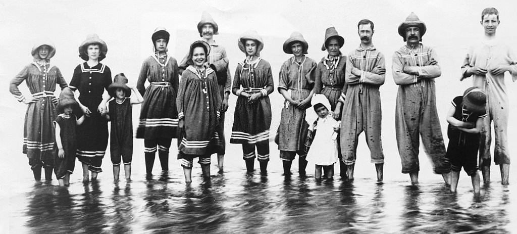
[[[421,43],[427,27],[415,13],[399,25],[399,35],[406,45],[393,53],[392,72],[399,85],[395,126],[402,173],[409,173],[418,184],[419,135],[431,158],[433,171],[450,183],[450,165],[445,160],[445,144],[436,111],[434,79],[442,75],[436,52]]]

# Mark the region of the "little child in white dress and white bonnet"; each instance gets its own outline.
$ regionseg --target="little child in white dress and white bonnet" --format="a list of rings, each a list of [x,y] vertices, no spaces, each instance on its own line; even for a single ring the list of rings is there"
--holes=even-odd
[[[334,176],[334,163],[338,162],[338,142],[340,121],[334,120],[330,111],[330,103],[323,94],[314,94],[311,99],[314,112],[317,114],[316,120],[314,112],[307,109],[306,121],[309,123],[307,133],[307,161],[314,163],[314,177],[316,180],[322,178],[322,168],[324,178],[332,179]]]

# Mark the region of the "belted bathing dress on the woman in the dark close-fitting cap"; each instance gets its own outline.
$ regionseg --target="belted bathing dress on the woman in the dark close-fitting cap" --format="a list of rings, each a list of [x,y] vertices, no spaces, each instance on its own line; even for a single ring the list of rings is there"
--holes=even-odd
[[[147,89],[145,81],[149,81]],[[144,97],[136,138],[177,138],[178,63],[167,55],[162,61],[149,56],[142,64],[136,88]]]

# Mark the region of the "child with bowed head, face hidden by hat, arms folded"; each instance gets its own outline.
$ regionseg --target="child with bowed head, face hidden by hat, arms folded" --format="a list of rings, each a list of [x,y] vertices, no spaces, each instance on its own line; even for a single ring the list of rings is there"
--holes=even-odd
[[[486,95],[478,87],[469,87],[463,96],[452,99],[452,106],[447,113],[447,147],[446,160],[451,164],[451,192],[456,192],[461,167],[472,178],[474,194],[479,195],[479,174],[477,156],[479,133],[483,126]]]

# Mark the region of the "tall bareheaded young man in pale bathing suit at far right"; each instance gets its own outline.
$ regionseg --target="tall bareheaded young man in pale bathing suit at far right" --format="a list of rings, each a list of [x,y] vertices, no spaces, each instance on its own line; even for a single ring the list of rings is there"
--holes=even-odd
[[[499,26],[499,12],[493,7],[481,13],[484,38],[469,49],[462,66],[461,80],[472,76],[474,86],[486,93],[486,114],[481,130],[479,166],[484,183],[490,182],[491,122],[494,121],[494,162],[501,170],[501,183],[508,184],[510,155],[508,152],[508,96],[506,95],[505,72],[517,80],[517,57],[513,51],[495,37]]]

